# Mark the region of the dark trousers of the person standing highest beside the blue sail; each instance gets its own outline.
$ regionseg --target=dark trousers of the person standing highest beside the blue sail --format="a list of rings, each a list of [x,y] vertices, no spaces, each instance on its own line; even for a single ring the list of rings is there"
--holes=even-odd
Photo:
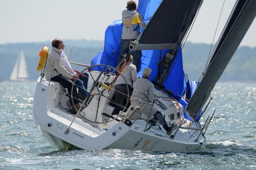
[[[124,58],[123,55],[128,52],[130,43],[131,41],[134,41],[134,40],[135,39],[121,39],[120,53],[117,57],[117,64]],[[141,55],[142,55],[141,50],[135,50],[132,52],[132,56],[133,56],[132,64],[136,66],[137,73],[140,70]]]

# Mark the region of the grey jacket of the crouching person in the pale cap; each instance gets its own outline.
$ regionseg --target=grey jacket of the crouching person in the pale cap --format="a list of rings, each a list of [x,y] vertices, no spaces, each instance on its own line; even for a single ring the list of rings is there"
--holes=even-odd
[[[133,85],[131,101],[141,99],[148,103],[153,103],[154,92],[154,85],[148,79],[140,78]]]

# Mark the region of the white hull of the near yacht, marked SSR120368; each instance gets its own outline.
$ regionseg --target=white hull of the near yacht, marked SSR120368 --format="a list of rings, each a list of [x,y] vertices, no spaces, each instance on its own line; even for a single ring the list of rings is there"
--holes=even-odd
[[[144,132],[146,121],[143,119],[136,120],[132,127],[122,122],[112,121],[105,126],[105,128],[110,127],[106,130],[100,125],[95,127],[95,124],[86,123],[84,120],[76,118],[66,135],[65,131],[74,117],[68,110],[65,110],[63,102],[60,103],[62,100],[60,96],[63,97],[63,94],[58,90],[61,88],[58,84],[51,82],[51,87],[48,86],[48,81],[37,83],[33,114],[38,130],[52,145],[61,150],[115,148],[186,152],[196,150],[200,146],[200,142],[204,141],[204,137],[199,135],[200,131],[190,137],[195,131],[181,128],[173,139],[170,139],[164,130],[151,128],[150,131]],[[197,126],[198,124],[194,122],[191,127]],[[199,138],[195,142],[198,136]]]

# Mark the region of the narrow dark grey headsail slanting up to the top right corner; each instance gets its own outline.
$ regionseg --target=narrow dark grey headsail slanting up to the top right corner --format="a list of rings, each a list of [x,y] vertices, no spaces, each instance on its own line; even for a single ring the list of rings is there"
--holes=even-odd
[[[256,16],[255,0],[237,0],[185,111],[196,119]]]

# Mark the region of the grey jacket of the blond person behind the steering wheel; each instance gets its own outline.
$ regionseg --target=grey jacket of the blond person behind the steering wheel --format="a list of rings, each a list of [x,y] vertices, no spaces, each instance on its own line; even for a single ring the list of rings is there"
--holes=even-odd
[[[133,83],[135,83],[135,81],[138,80],[136,66],[133,65],[131,61],[127,63],[121,73],[123,74],[127,84],[130,86],[132,86],[132,81]],[[122,76],[119,76],[116,80],[115,85],[125,84],[124,78]]]

